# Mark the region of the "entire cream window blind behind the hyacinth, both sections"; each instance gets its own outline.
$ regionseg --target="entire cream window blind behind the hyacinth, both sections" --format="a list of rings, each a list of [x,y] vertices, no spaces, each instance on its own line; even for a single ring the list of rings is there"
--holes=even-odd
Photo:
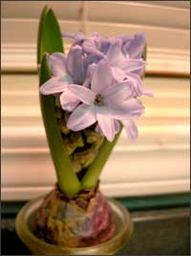
[[[138,141],[129,141],[122,131],[103,170],[101,187],[107,196],[189,190],[189,9],[180,1],[161,2],[49,1],[62,31],[144,32],[148,38],[146,72],[150,76],[144,86],[155,97],[142,100],[146,112],[137,122]],[[55,182],[35,73],[38,19],[45,4],[2,3],[3,200],[35,198]],[[66,39],[66,51],[70,43]],[[159,77],[151,76],[156,74]]]

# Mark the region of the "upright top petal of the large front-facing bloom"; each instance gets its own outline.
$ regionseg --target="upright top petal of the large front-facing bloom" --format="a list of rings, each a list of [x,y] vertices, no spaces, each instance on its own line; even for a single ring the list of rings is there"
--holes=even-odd
[[[92,80],[92,90],[101,93],[102,90],[111,86],[113,82],[112,69],[107,61],[101,60],[96,67]]]

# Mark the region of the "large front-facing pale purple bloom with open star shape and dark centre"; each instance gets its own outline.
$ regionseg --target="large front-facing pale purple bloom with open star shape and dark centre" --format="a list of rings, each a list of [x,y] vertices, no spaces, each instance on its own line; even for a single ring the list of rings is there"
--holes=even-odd
[[[97,122],[108,141],[114,140],[118,127],[115,120],[131,120],[143,112],[138,99],[132,98],[132,85],[127,81],[116,83],[104,60],[97,64],[91,88],[71,84],[69,90],[82,104],[71,114],[68,128],[81,130]]]

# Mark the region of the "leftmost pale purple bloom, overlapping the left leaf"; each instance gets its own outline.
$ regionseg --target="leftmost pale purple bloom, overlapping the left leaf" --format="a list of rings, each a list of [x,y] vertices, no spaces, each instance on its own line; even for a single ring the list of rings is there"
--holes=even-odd
[[[73,111],[79,101],[68,90],[69,84],[85,84],[90,82],[88,75],[86,58],[82,53],[80,46],[76,45],[71,48],[67,57],[61,53],[54,53],[48,56],[53,78],[45,82],[40,87],[43,95],[57,94],[60,95],[60,103],[67,111]]]

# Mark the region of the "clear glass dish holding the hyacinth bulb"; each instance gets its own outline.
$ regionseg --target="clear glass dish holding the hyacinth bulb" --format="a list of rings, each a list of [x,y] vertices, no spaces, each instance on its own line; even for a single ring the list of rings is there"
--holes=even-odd
[[[18,213],[15,221],[19,238],[30,249],[33,255],[114,255],[127,243],[133,233],[133,221],[129,212],[116,200],[108,199],[116,221],[113,237],[102,244],[88,247],[63,247],[48,244],[32,233],[30,223],[32,213],[39,207],[44,197],[29,201]]]

